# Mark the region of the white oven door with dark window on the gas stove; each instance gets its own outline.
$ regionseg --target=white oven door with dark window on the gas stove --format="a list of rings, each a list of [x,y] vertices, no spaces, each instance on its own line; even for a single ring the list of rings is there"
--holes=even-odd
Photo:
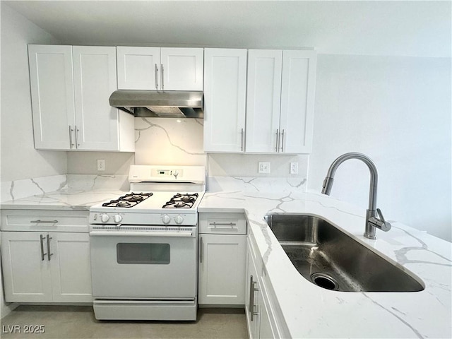
[[[194,299],[196,227],[177,233],[90,232],[93,297]]]

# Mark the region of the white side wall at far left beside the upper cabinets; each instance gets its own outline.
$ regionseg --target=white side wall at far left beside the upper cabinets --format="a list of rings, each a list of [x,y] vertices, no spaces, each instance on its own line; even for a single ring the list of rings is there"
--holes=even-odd
[[[33,148],[27,44],[49,44],[55,40],[4,3],[0,6],[1,182],[65,174],[66,153],[38,152]],[[0,316],[10,309],[1,289]]]

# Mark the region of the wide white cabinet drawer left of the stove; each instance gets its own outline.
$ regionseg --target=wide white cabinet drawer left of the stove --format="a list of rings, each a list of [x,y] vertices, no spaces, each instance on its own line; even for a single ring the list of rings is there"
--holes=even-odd
[[[88,210],[2,210],[1,230],[88,232]]]

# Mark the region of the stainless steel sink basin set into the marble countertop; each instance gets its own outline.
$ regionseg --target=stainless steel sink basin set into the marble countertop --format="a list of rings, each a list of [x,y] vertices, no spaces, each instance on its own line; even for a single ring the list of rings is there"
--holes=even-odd
[[[343,292],[418,292],[424,283],[313,215],[268,214],[268,226],[298,272],[311,283]]]

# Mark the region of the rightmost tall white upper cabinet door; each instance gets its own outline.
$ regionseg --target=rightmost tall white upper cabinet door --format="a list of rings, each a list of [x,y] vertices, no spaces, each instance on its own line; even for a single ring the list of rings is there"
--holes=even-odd
[[[314,126],[316,53],[284,51],[280,151],[310,153]]]

